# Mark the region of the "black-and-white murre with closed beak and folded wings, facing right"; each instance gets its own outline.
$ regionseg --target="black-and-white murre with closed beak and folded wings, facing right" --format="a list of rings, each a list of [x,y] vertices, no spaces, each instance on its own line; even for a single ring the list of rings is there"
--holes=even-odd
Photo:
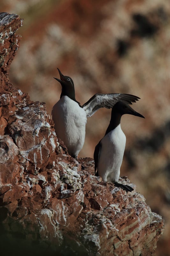
[[[117,102],[111,113],[110,124],[105,136],[99,141],[94,150],[94,170],[96,176],[101,176],[105,182],[113,182],[116,187],[132,191],[128,185],[118,183],[122,165],[126,136],[121,129],[121,117],[124,114],[143,117],[124,102]],[[97,170],[97,171],[96,171]]]

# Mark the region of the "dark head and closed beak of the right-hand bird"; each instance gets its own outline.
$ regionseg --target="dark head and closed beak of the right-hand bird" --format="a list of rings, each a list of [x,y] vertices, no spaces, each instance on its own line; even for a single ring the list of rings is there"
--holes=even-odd
[[[124,114],[129,114],[133,116],[139,116],[144,118],[141,114],[136,112],[133,108],[131,108],[128,104],[118,101],[112,108],[112,115],[118,114],[120,116]]]

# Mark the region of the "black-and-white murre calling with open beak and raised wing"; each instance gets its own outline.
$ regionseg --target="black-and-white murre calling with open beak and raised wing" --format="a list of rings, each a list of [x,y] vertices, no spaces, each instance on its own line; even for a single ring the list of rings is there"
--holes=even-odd
[[[123,93],[95,94],[84,105],[75,99],[74,83],[71,77],[64,76],[58,69],[62,85],[60,100],[52,108],[52,119],[57,137],[63,140],[71,156],[77,157],[85,141],[87,117],[92,116],[99,108],[112,108],[116,102],[128,104],[140,99],[137,96]]]

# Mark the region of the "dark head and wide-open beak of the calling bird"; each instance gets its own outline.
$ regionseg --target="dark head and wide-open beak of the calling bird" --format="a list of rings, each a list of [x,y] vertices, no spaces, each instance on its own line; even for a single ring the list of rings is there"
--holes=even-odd
[[[55,78],[62,86],[62,93],[60,98],[64,95],[70,97],[70,99],[75,100],[75,90],[74,90],[74,83],[70,76],[64,76],[59,68],[58,72],[60,74],[60,79]]]

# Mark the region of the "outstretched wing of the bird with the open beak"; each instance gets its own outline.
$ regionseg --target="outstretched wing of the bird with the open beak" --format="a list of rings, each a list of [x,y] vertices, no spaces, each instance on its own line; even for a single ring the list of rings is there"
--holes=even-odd
[[[108,94],[94,94],[82,108],[85,110],[87,117],[92,116],[99,108],[113,108],[118,101],[123,101],[128,104],[136,102],[140,98],[124,93],[108,93]]]

